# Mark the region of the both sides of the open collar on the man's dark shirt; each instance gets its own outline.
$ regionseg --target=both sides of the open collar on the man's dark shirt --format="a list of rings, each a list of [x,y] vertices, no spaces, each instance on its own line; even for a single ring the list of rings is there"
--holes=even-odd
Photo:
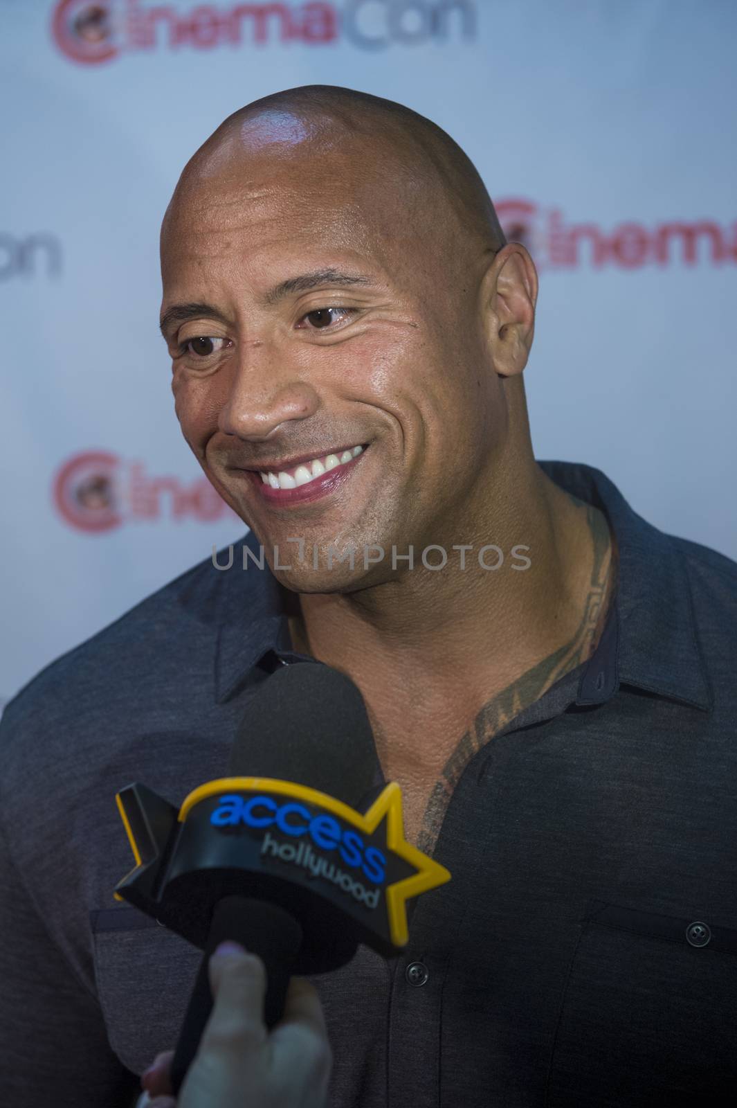
[[[600,470],[572,462],[538,462],[567,492],[601,509],[616,536],[619,578],[610,616],[596,650],[581,676],[578,704],[600,704],[621,684],[634,685],[705,711],[713,706],[693,612],[691,586],[677,540],[634,512]],[[232,546],[224,570],[222,618],[215,657],[215,695],[222,704],[243,684],[264,655],[297,660],[291,653],[284,589],[259,557],[249,532]],[[218,565],[228,557],[220,552]],[[217,571],[214,571],[217,572]],[[218,584],[220,584],[218,582]]]

